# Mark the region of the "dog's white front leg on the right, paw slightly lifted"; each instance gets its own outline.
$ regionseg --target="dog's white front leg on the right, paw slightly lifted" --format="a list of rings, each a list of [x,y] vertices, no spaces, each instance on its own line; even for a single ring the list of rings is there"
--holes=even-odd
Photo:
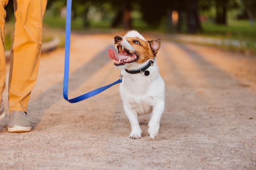
[[[156,105],[153,108],[152,116],[148,123],[148,135],[150,136],[150,139],[153,139],[157,136],[159,126],[160,126],[160,120],[164,110],[165,110],[164,101],[156,103]]]

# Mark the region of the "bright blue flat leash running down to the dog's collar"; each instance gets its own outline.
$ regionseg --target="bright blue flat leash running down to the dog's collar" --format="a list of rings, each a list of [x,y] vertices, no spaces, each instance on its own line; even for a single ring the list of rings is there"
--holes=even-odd
[[[63,80],[63,97],[69,103],[80,102],[84,99],[90,98],[91,96],[97,95],[100,92],[114,86],[115,84],[122,82],[122,74],[120,74],[120,79],[116,82],[111,83],[107,86],[97,88],[96,90],[90,91],[86,94],[80,95],[73,99],[68,99],[68,76],[69,76],[69,54],[70,54],[70,31],[71,31],[71,5],[72,0],[67,0],[67,16],[66,16],[66,38],[65,38],[65,65],[64,65],[64,80]]]

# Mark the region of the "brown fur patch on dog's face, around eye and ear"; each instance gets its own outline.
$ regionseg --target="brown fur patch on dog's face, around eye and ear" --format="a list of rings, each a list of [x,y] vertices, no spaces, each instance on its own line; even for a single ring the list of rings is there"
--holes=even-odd
[[[144,63],[148,59],[154,59],[160,48],[160,39],[147,42],[138,37],[126,37],[126,39],[135,49],[135,53],[138,56],[137,63]]]

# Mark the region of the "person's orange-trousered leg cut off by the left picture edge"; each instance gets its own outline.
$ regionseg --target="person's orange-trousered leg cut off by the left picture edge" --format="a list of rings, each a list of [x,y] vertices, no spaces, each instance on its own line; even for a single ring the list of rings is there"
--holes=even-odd
[[[4,105],[2,103],[3,91],[5,89],[5,76],[6,76],[6,66],[5,66],[5,55],[4,55],[4,24],[6,12],[4,7],[7,5],[8,0],[0,0],[0,119],[4,118]]]

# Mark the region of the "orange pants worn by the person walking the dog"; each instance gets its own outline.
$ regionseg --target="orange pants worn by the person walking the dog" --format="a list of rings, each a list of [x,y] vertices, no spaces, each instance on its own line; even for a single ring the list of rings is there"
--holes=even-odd
[[[0,0],[0,95],[5,89],[4,25],[8,0]],[[42,44],[42,21],[47,0],[14,0],[15,32],[10,56],[9,111],[27,111],[34,88]]]

